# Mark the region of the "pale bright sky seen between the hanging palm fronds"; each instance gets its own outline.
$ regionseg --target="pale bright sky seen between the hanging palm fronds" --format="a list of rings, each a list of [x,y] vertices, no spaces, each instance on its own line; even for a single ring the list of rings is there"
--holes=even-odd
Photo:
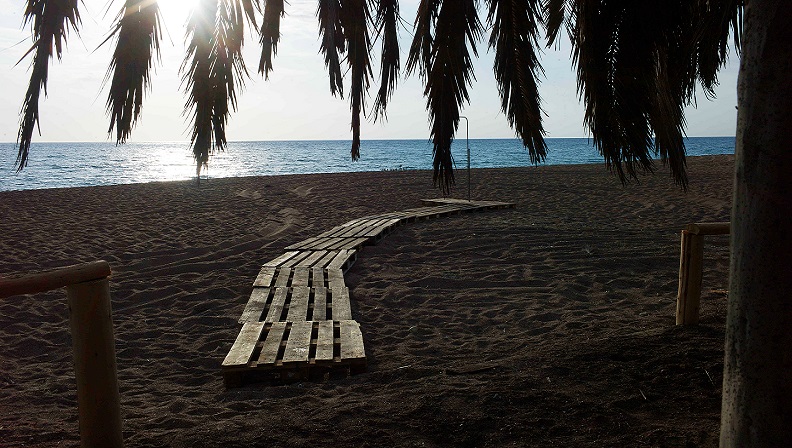
[[[155,66],[151,90],[143,104],[141,120],[131,141],[184,141],[189,139],[189,117],[182,114],[185,95],[179,68],[185,52],[185,23],[195,0],[159,0],[165,31],[161,60]],[[109,13],[106,13],[109,5]],[[281,21],[281,42],[274,71],[265,81],[257,73],[260,47],[255,36],[246,35],[245,61],[251,78],[239,96],[226,135],[230,141],[251,140],[351,140],[348,98],[330,94],[324,59],[319,53],[316,0],[289,0]],[[481,2],[483,3],[483,2]],[[23,27],[24,0],[0,0],[0,141],[15,142],[19,112],[30,77],[28,57],[17,61],[31,45],[30,27]],[[426,101],[417,74],[406,77],[407,51],[412,39],[418,0],[401,0],[407,27],[401,30],[402,76],[388,107],[387,121],[363,121],[364,140],[428,139]],[[40,105],[41,135],[34,144],[57,141],[108,141],[109,118],[105,110],[107,90],[103,80],[113,50],[111,43],[99,47],[111,29],[123,0],[82,0],[82,27],[70,33],[61,61],[51,63],[47,97]],[[462,114],[470,123],[470,138],[512,138],[500,109],[492,73],[491,51],[485,38],[478,45],[479,59],[470,88],[470,103]],[[546,113],[548,138],[588,137],[583,125],[569,43],[545,50],[541,57],[545,76],[540,95]],[[379,87],[378,63],[372,62],[374,82],[368,109]],[[697,95],[697,107],[686,110],[688,136],[732,136],[736,127],[736,56],[721,71],[717,99]],[[349,80],[345,79],[348,88]],[[370,115],[370,114],[369,114]],[[464,135],[460,128],[459,136]]]

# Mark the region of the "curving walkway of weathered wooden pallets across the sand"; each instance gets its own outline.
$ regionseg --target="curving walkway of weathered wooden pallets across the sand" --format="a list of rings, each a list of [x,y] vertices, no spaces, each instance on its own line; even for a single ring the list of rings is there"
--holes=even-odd
[[[458,199],[423,203],[354,219],[288,246],[283,255],[264,263],[239,318],[242,329],[222,364],[226,387],[365,371],[363,334],[352,319],[344,283],[344,272],[363,246],[375,244],[404,223],[514,207]]]

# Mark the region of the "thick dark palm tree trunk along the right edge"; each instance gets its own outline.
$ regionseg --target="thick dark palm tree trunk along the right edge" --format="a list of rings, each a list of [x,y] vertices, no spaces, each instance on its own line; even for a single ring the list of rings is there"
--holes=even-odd
[[[750,0],[737,161],[722,447],[792,446],[792,2]]]

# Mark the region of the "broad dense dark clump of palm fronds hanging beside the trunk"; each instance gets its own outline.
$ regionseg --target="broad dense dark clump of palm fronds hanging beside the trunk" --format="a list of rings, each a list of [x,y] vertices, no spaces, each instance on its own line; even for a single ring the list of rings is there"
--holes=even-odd
[[[687,188],[684,107],[699,82],[714,94],[739,50],[740,0],[575,0],[570,23],[578,89],[595,146],[622,182],[652,172],[652,154]]]

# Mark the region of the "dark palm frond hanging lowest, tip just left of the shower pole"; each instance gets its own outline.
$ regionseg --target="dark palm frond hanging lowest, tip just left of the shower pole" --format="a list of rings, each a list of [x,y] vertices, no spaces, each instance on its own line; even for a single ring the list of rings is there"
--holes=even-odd
[[[431,18],[433,5],[427,6]],[[474,77],[470,50],[477,55],[476,42],[482,33],[476,6],[475,0],[444,0],[437,12],[434,36],[430,32],[419,37],[416,31],[410,53],[412,61],[422,62],[426,73],[424,95],[432,128],[433,180],[444,193],[450,191],[454,184],[451,142],[459,126],[460,107],[470,100],[468,85]],[[421,14],[427,14],[427,11],[419,9]],[[424,19],[419,17],[418,21],[421,20]],[[420,26],[427,25],[431,29],[431,23]],[[432,43],[428,60],[423,48],[427,41]]]

